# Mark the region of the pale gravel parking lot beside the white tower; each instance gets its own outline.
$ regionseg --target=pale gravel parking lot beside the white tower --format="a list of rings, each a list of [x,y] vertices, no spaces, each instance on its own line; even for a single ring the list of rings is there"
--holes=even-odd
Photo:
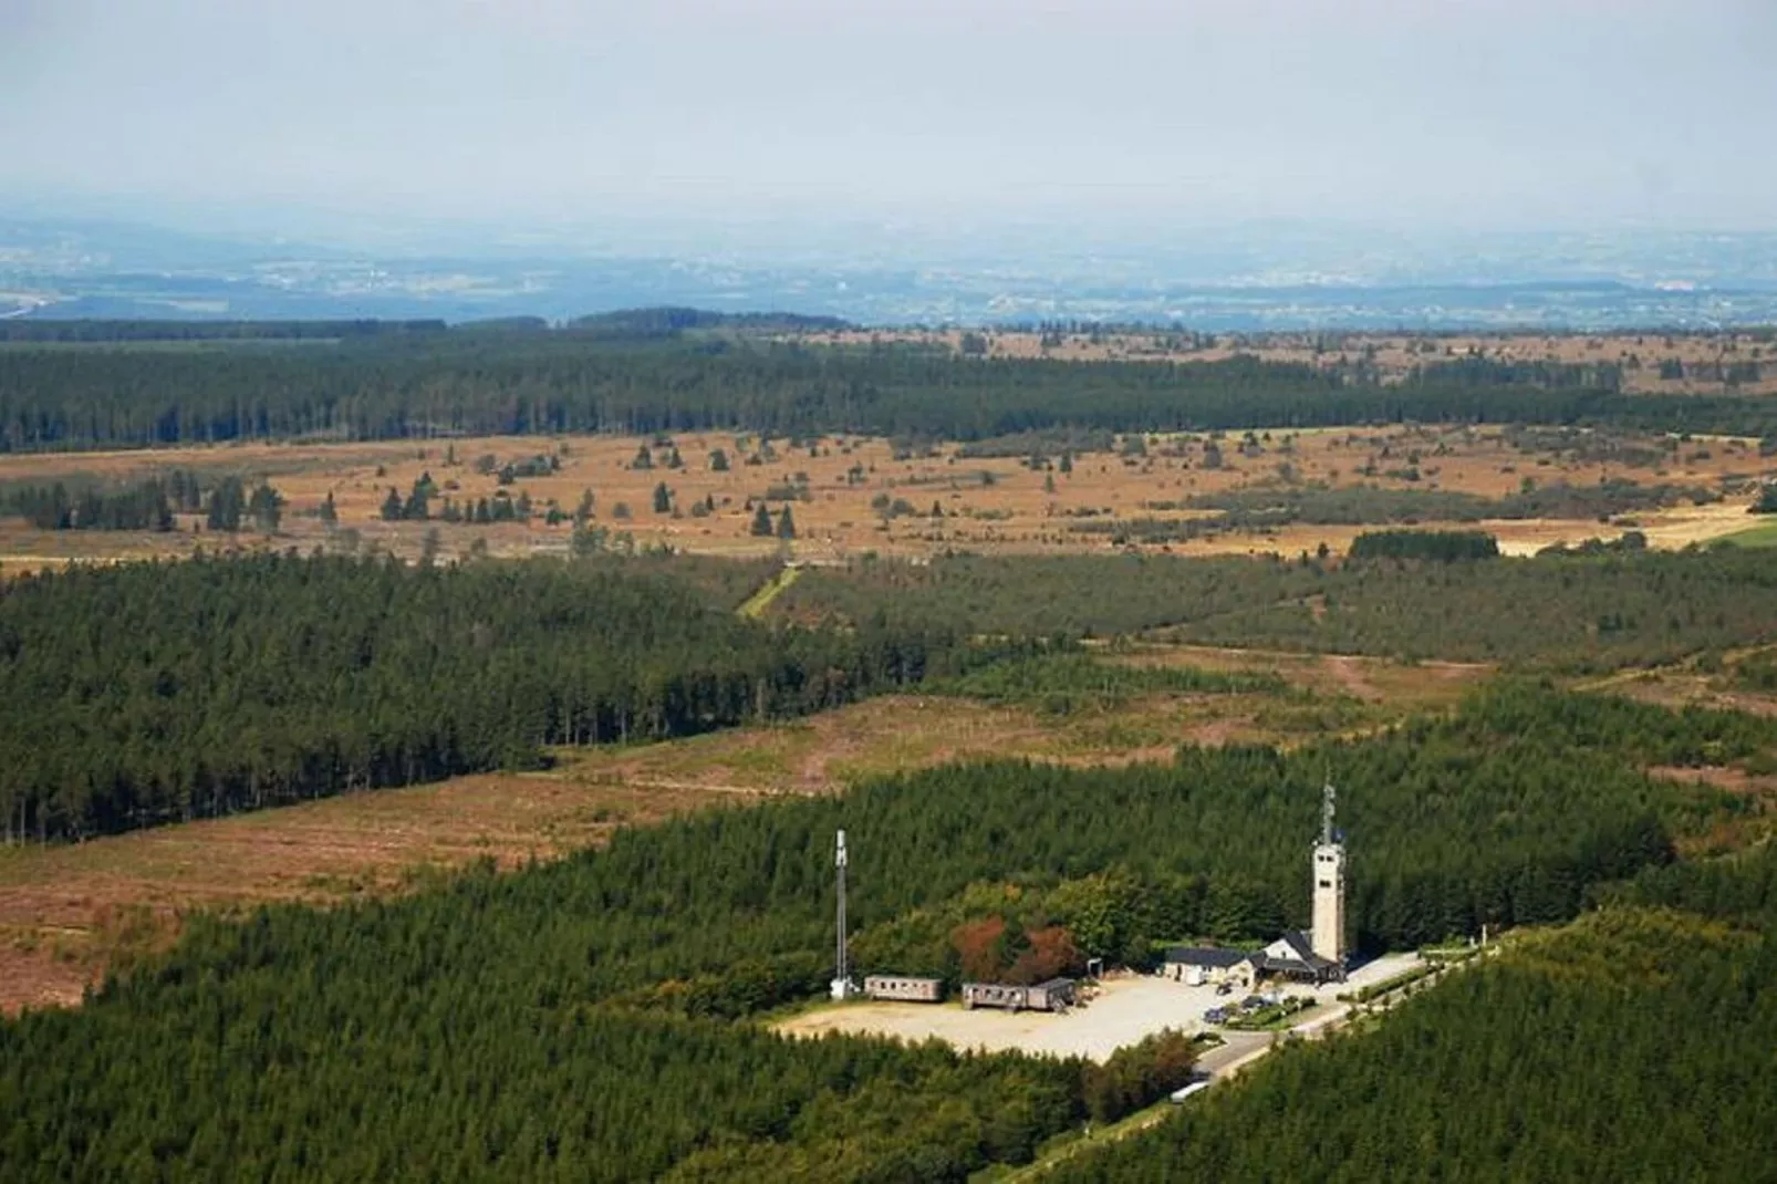
[[[1311,1024],[1331,1015],[1331,1006],[1326,1004],[1335,996],[1400,974],[1414,962],[1416,955],[1390,955],[1359,967],[1343,983],[1285,990],[1317,997],[1320,1006],[1297,1017],[1301,1024]],[[778,1031],[800,1036],[844,1031],[908,1042],[935,1036],[961,1049],[1050,1052],[1102,1061],[1120,1047],[1164,1028],[1201,1031],[1208,1008],[1237,999],[1239,996],[1217,996],[1214,987],[1185,987],[1153,974],[1116,974],[1096,985],[1082,1006],[1061,1015],[965,1012],[958,1003],[842,1003],[796,1015],[780,1024]]]

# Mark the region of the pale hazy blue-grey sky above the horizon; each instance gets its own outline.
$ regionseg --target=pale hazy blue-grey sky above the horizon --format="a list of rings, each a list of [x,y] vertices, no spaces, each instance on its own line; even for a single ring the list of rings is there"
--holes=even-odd
[[[1777,0],[0,0],[0,197],[1777,228]]]

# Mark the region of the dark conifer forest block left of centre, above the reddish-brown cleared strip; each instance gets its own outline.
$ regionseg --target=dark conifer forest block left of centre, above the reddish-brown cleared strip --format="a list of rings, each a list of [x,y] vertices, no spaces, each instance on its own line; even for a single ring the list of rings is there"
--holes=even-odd
[[[974,652],[942,629],[745,622],[665,571],[274,555],[18,580],[0,588],[4,834],[535,766],[546,745],[800,715]]]

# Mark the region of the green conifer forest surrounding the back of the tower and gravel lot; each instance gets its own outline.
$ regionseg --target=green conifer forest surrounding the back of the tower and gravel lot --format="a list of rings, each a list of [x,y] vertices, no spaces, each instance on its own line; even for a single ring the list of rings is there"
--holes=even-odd
[[[1519,734],[1526,715],[1550,724]],[[1510,684],[1454,720],[1363,741],[1187,748],[1105,772],[938,768],[626,830],[604,852],[402,900],[199,917],[84,1008],[0,1026],[0,1161],[9,1179],[961,1180],[1155,1097],[1180,1060],[1151,1047],[1151,1068],[1118,1070],[1148,1086],[1107,1093],[1077,1061],[793,1044],[727,1019],[814,994],[832,972],[835,827],[855,837],[858,948],[876,949],[860,971],[906,969],[945,910],[993,900],[993,885],[1040,901],[1011,919],[1075,926],[1082,955],[1141,956],[1159,939],[1301,923],[1303,853],[1331,775],[1361,850],[1358,937],[1411,944],[1484,917],[1571,917],[1647,869],[1654,884],[1674,827],[1736,805],[1647,780],[1637,745],[1770,743],[1731,720]],[[1562,1031],[1569,1012],[1486,994],[1496,981],[1462,988],[1510,1004],[1526,1038],[1548,1035],[1530,1015]],[[1425,1004],[1404,1015],[1427,1019],[1404,1028],[1416,1040],[1443,1038]],[[1489,1015],[1448,1022],[1503,1022]],[[1731,1033],[1750,1035],[1745,1022]],[[1628,1060],[1590,1063],[1631,1065],[1649,1042],[1672,1047],[1670,1022]],[[1411,1115],[1452,1097],[1414,1088]]]

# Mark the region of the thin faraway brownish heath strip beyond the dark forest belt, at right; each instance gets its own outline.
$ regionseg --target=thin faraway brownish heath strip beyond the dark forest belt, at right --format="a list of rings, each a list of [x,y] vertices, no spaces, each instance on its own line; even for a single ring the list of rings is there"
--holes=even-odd
[[[1226,361],[1249,354],[1263,361],[1340,366],[1365,359],[1398,380],[1414,366],[1461,357],[1505,363],[1614,363],[1624,368],[1624,389],[1642,395],[1777,393],[1777,338],[1770,332],[1661,334],[1661,332],[1064,332],[1047,341],[1040,332],[963,329],[853,329],[812,334],[832,345],[897,341],[963,350],[965,336],[986,357],[1047,357],[1052,361]],[[1661,370],[1667,363],[1667,370]],[[1757,363],[1759,377],[1729,384],[1727,368]],[[1677,370],[1674,370],[1677,366]]]

